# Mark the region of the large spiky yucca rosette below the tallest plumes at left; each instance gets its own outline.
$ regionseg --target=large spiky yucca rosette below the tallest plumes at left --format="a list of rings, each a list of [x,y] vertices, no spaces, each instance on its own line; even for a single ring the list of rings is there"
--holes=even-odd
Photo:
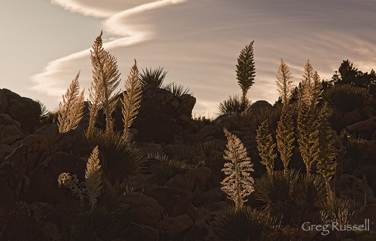
[[[104,134],[95,132],[91,141],[99,146],[105,156],[102,165],[108,180],[112,183],[131,181],[142,173],[143,153],[130,139],[123,139],[122,134]]]

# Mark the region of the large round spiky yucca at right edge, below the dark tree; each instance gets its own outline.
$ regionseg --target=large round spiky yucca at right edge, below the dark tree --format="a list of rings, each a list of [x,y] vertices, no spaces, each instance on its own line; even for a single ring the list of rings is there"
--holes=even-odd
[[[331,112],[330,126],[337,132],[370,117],[375,99],[369,90],[348,84],[335,85],[322,93]]]

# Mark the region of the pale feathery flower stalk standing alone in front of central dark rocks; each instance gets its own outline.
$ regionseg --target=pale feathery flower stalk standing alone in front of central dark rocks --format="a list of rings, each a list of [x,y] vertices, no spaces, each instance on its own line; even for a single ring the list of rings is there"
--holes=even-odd
[[[222,171],[227,177],[221,182],[222,191],[226,192],[230,199],[234,200],[236,209],[241,208],[245,199],[252,191],[253,177],[250,171],[254,171],[251,163],[251,158],[247,157],[247,150],[243,143],[236,135],[230,133],[226,128],[223,129],[227,136],[228,150],[225,150],[226,155],[223,157],[231,162],[225,163],[225,168]]]

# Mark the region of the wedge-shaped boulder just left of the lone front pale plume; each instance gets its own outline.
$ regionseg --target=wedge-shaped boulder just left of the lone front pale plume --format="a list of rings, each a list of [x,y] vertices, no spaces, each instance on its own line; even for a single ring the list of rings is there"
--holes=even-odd
[[[208,179],[212,176],[212,170],[208,167],[199,167],[195,170],[178,174],[169,181],[166,186],[175,187],[185,191],[197,191],[208,189]]]

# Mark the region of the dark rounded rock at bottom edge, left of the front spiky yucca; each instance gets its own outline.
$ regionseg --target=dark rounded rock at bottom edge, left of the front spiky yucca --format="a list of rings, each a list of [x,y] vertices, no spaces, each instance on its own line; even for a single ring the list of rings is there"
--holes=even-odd
[[[160,222],[160,228],[165,233],[164,240],[174,241],[178,238],[182,239],[185,232],[193,225],[193,220],[188,214],[177,217],[166,217]]]

